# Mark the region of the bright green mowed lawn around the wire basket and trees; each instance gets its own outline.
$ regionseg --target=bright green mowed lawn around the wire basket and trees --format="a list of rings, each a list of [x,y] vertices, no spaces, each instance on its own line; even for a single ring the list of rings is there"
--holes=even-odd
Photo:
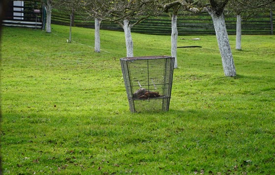
[[[131,113],[123,32],[4,27],[4,174],[275,174],[275,36],[243,36],[225,77],[215,36],[179,36],[168,112]],[[133,33],[134,54],[170,55],[170,37]],[[193,41],[192,38],[200,38]]]

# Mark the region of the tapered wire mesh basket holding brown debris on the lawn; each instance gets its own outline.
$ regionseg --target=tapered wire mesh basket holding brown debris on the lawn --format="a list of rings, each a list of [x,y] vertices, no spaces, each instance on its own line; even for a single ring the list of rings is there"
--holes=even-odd
[[[169,110],[173,57],[125,57],[120,63],[131,112]]]

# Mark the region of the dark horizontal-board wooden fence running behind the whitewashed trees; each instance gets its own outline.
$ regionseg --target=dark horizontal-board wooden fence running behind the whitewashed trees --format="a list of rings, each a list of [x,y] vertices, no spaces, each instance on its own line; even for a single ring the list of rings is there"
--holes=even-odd
[[[245,18],[245,17],[244,17]],[[244,35],[270,35],[273,34],[273,25],[269,13],[259,14],[248,20],[242,21],[242,34]],[[52,23],[69,25],[70,16],[53,11]],[[225,23],[229,35],[236,34],[236,17],[225,16]],[[75,26],[94,28],[94,22],[83,22],[81,17],[75,17]],[[192,14],[179,15],[177,19],[177,27],[179,35],[214,35],[215,29],[212,18],[208,14]],[[101,29],[123,31],[122,27],[115,23],[103,21]],[[156,35],[171,34],[171,17],[164,14],[161,17],[153,17],[146,19],[142,23],[135,25],[132,32]]]

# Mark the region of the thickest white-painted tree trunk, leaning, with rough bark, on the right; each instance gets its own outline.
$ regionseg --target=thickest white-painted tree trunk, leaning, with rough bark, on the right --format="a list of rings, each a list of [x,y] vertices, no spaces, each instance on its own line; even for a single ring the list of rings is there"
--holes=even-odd
[[[213,24],[216,31],[224,75],[235,76],[236,70],[232,51],[229,44],[226,25],[224,22],[224,16],[223,14],[221,16],[216,16],[213,12],[210,12],[210,15],[213,19]]]

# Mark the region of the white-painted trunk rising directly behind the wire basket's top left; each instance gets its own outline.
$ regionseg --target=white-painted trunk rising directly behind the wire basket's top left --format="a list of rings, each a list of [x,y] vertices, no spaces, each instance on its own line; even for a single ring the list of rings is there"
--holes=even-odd
[[[129,24],[129,20],[123,21],[123,29],[125,34],[125,42],[126,42],[126,50],[127,50],[127,57],[133,57],[134,56],[134,45],[133,45],[133,39],[131,35],[131,25]]]

